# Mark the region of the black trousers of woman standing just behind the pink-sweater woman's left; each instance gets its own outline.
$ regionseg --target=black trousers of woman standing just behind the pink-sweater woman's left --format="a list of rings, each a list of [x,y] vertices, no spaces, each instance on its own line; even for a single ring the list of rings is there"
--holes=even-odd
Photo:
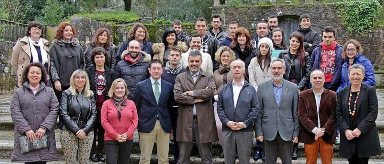
[[[103,126],[101,126],[101,110],[100,109],[96,109],[96,123],[93,126],[93,134],[94,134],[94,137],[93,137],[93,143],[91,148],[91,155],[103,153],[104,128]],[[97,141],[97,148],[96,148],[96,141]]]

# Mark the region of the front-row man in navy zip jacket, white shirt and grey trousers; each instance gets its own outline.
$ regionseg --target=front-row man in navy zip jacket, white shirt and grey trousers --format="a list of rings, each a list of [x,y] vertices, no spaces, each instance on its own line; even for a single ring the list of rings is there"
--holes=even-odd
[[[255,88],[244,80],[245,63],[231,63],[233,80],[225,84],[217,102],[217,114],[223,123],[222,146],[226,164],[248,164],[252,152],[253,123],[259,112]]]

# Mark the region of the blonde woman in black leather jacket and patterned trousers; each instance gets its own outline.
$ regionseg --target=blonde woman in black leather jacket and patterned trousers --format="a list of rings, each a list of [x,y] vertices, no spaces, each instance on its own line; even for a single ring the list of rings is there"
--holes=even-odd
[[[60,99],[60,143],[66,164],[89,163],[93,141],[93,125],[96,120],[96,102],[90,89],[88,74],[78,69],[70,78],[69,89]]]

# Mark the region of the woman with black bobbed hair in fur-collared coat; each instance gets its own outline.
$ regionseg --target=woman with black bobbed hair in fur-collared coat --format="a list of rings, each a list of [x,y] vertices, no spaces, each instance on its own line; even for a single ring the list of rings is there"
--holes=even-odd
[[[183,50],[181,53],[186,52],[188,50],[187,44],[185,44],[185,42],[178,42],[177,40],[176,31],[172,27],[167,28],[163,33],[162,43],[155,43],[152,46],[153,59],[159,59],[165,66],[169,61],[168,55],[170,47],[179,46]]]

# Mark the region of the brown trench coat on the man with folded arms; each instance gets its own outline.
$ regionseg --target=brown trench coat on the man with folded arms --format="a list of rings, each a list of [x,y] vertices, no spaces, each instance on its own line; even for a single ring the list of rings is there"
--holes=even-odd
[[[185,72],[177,75],[174,87],[175,101],[179,103],[176,141],[193,142],[192,110],[195,98],[204,100],[204,102],[195,104],[200,143],[218,141],[214,108],[212,105],[212,96],[214,95],[215,88],[214,75],[201,69],[195,84],[188,68]],[[192,90],[194,97],[184,94],[184,92]]]

